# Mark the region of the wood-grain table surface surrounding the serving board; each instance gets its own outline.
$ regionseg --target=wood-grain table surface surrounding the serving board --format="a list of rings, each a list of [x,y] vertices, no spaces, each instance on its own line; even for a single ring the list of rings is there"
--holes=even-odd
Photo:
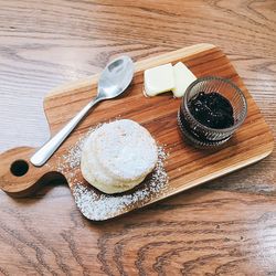
[[[55,86],[195,43],[220,46],[276,134],[276,2],[0,0],[0,151],[49,138]],[[104,223],[70,189],[0,192],[0,275],[276,275],[276,151]]]

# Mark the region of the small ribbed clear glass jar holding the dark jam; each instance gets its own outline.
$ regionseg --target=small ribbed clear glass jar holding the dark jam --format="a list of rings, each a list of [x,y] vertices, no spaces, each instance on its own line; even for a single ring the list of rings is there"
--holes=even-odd
[[[189,108],[189,102],[199,93],[216,92],[225,97],[233,107],[234,125],[227,128],[211,128],[197,120]],[[185,91],[178,113],[178,124],[184,138],[199,148],[214,148],[227,141],[243,124],[247,104],[243,92],[231,81],[217,76],[198,78]]]

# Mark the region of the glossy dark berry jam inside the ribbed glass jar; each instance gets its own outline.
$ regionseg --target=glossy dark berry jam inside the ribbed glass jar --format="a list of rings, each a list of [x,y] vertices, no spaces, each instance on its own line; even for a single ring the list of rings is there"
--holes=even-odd
[[[216,92],[199,93],[189,100],[188,107],[192,116],[206,127],[222,129],[234,125],[231,103]]]

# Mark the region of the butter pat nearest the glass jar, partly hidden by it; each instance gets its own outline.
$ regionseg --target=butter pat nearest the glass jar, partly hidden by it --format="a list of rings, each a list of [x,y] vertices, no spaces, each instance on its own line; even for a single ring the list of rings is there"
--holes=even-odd
[[[182,63],[178,62],[173,66],[174,87],[172,93],[174,97],[182,97],[188,86],[197,79],[193,73]]]

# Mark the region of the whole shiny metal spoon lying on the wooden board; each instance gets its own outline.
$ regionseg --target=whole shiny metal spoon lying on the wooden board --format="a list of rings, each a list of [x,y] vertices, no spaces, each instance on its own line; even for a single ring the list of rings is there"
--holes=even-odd
[[[31,157],[31,162],[36,167],[44,164],[94,105],[119,96],[131,83],[132,77],[134,62],[129,56],[120,56],[107,64],[99,76],[97,96],[40,148]]]

